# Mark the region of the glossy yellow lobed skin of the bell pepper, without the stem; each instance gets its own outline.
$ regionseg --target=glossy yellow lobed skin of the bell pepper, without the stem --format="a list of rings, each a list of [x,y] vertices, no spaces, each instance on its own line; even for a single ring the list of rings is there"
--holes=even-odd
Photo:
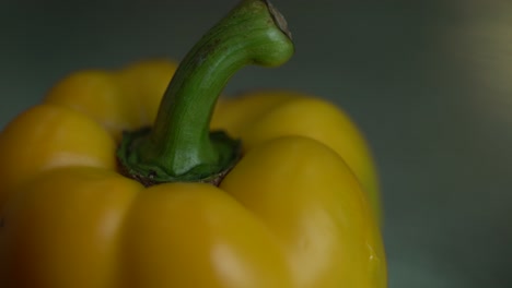
[[[212,125],[240,136],[245,156],[219,188],[144,189],[116,172],[116,139],[154,119],[174,67],[79,72],[3,130],[0,286],[385,287],[375,214],[339,156],[361,140],[334,133],[357,135],[323,100],[222,100]]]

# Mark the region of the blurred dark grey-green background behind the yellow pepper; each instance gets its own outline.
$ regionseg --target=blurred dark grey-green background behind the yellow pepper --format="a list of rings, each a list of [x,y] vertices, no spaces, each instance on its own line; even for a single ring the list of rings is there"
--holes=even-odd
[[[0,128],[66,74],[182,59],[237,0],[2,0]],[[379,165],[389,287],[512,287],[512,2],[274,0],[296,45],[225,93],[330,99]]]

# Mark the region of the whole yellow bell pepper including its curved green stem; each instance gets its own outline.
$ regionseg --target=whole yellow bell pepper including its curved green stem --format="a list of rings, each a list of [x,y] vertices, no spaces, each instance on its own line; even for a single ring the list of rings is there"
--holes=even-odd
[[[246,0],[176,73],[155,60],[58,83],[0,134],[0,287],[386,287],[350,119],[286,91],[217,103],[241,67],[292,53],[279,12]]]

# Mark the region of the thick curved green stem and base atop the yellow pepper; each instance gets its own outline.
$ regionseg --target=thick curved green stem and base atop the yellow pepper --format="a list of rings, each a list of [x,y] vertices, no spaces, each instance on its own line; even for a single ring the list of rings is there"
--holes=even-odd
[[[238,141],[209,131],[219,95],[243,67],[277,67],[292,55],[286,21],[269,1],[242,1],[185,57],[153,129],[125,133],[118,149],[121,170],[147,185],[217,183],[240,157]]]

